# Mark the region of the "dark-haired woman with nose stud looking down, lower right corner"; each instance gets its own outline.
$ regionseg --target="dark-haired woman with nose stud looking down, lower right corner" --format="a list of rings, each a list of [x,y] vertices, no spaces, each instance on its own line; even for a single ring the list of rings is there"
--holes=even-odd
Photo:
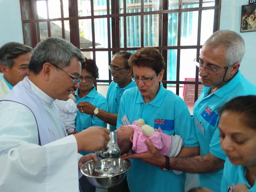
[[[218,126],[221,148],[227,155],[221,192],[238,191],[241,184],[243,191],[255,192],[256,95],[237,97],[223,105]]]

